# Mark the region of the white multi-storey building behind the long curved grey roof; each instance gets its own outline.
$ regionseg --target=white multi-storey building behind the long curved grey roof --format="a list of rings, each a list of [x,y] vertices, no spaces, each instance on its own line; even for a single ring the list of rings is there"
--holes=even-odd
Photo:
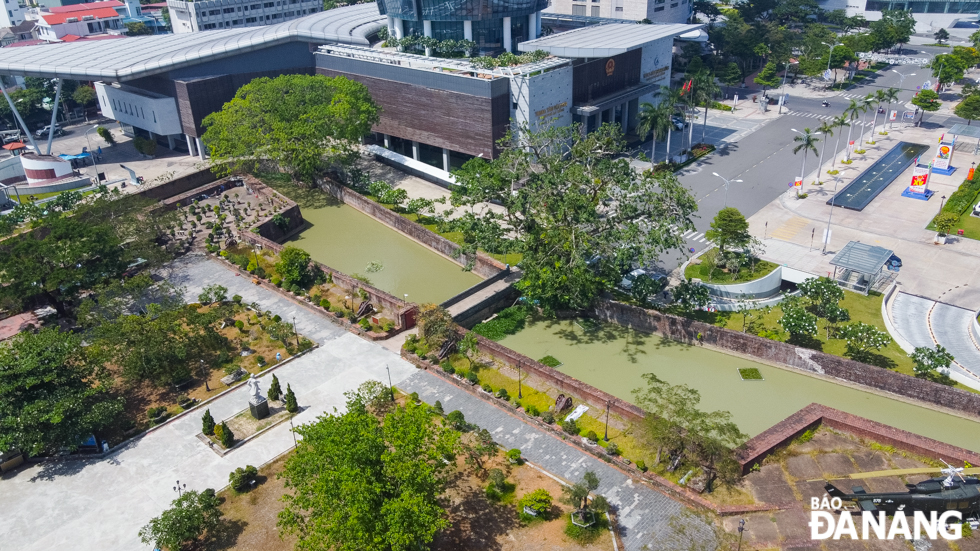
[[[323,10],[322,0],[167,0],[175,33],[258,27]]]

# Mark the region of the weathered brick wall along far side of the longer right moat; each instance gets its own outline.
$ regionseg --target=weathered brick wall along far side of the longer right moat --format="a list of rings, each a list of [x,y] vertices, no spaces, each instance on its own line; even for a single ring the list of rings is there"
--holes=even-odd
[[[980,394],[916,379],[847,358],[831,356],[815,350],[799,348],[791,344],[618,302],[600,301],[590,314],[597,319],[618,323],[639,331],[656,333],[685,343],[697,342],[698,334],[700,334],[703,343],[723,350],[751,356],[784,367],[792,367],[801,371],[819,373],[857,383],[970,416],[980,416]]]

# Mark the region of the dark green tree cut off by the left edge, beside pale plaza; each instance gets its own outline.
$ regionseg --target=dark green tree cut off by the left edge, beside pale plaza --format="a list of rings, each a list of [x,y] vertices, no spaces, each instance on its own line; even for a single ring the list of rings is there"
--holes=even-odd
[[[111,378],[86,360],[81,344],[51,328],[0,344],[0,451],[73,450],[122,411]]]

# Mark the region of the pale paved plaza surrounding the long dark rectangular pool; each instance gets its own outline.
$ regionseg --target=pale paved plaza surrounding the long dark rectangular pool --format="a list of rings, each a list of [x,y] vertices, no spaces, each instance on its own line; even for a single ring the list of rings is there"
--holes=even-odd
[[[941,196],[949,197],[966,178],[970,163],[980,161],[980,156],[973,155],[972,143],[961,142],[962,147],[957,144],[953,166],[958,170],[954,174],[943,176],[933,173],[929,188],[935,191],[935,195],[930,201],[901,196],[912,179],[910,167],[863,211],[835,208],[828,254],[821,254],[823,232],[831,216],[831,207],[826,203],[834,195],[834,185],[837,185],[837,189],[843,189],[899,141],[928,145],[930,150],[923,157],[930,158],[935,154],[935,146],[942,132],[942,129],[908,128],[895,130],[888,136],[876,135],[878,143],[865,145],[867,153],[864,155],[852,155],[853,164],[836,163],[840,171],[836,178],[826,174],[832,162],[828,151],[819,171],[825,182],[823,185],[813,185],[818,171],[813,170],[812,164],[808,167],[812,172],[807,174],[802,190],[809,194],[808,198],[796,199],[795,191],[789,189],[749,218],[750,232],[766,245],[763,257],[826,275],[833,271],[830,266],[833,253],[848,241],[871,243],[894,250],[902,259],[898,282],[906,292],[932,300],[943,296],[943,302],[968,310],[980,308],[980,285],[970,285],[980,281],[980,241],[953,237],[946,245],[935,245],[935,232],[925,229],[939,212]],[[846,137],[841,140],[842,143]],[[853,133],[851,139],[857,142],[859,137]],[[836,143],[836,136],[830,140],[831,147],[828,149],[832,149]],[[817,144],[817,147],[822,148],[822,144]],[[837,158],[839,161],[842,155]],[[814,236],[812,249],[811,236]]]

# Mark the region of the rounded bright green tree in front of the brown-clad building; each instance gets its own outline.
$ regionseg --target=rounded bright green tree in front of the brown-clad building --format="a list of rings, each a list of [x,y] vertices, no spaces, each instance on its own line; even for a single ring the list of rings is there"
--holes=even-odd
[[[270,159],[311,182],[356,158],[378,112],[367,87],[345,77],[262,77],[204,119],[202,139],[219,173],[252,170]]]

